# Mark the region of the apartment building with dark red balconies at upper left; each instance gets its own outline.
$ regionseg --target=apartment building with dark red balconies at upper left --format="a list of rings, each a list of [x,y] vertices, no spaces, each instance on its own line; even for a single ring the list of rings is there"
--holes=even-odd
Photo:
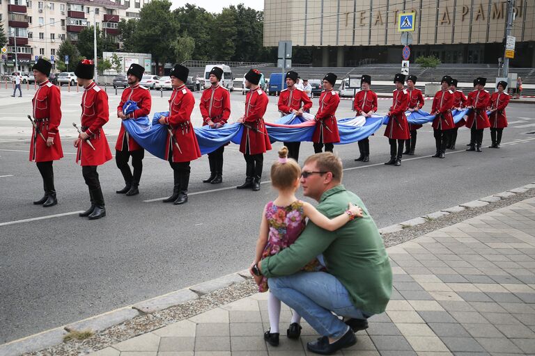
[[[8,54],[0,67],[7,72],[30,72],[36,56],[56,56],[65,38],[76,43],[78,34],[95,23],[118,44],[118,23],[123,18],[138,18],[149,1],[0,0],[0,20],[9,38]]]

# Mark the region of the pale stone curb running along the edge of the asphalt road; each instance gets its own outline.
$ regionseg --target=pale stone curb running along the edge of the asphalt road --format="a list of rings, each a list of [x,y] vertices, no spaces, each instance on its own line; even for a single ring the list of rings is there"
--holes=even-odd
[[[508,197],[513,197],[516,195],[516,193],[525,193],[529,189],[533,188],[535,188],[535,182],[532,182],[531,184],[527,184],[519,188],[513,188],[509,191],[497,193],[488,197],[483,197],[479,200],[460,204],[456,207],[442,209],[441,211],[435,211],[434,213],[429,213],[425,216],[422,216],[421,218],[414,218],[411,220],[407,220],[403,223],[383,227],[382,229],[379,229],[379,232],[380,234],[401,232],[404,229],[404,226],[412,227],[417,225],[424,225],[424,223],[426,223],[428,219],[436,220],[437,218],[441,218],[442,216],[448,216],[450,215],[450,213],[465,211],[467,209],[470,210],[472,208],[477,207],[484,207],[488,205],[489,200],[491,200],[492,202],[498,202],[499,200],[506,199]],[[465,207],[467,207],[467,209]],[[423,220],[423,222],[421,222],[421,220]],[[130,307],[121,308],[116,311],[109,312],[107,314],[102,314],[100,316],[93,316],[92,318],[88,318],[83,321],[72,323],[63,327],[57,327],[52,330],[47,330],[45,332],[26,337],[24,339],[14,340],[10,343],[0,345],[0,355],[15,356],[20,355],[21,353],[31,353],[38,350],[43,350],[45,348],[50,348],[63,343],[63,336],[67,333],[65,330],[82,330],[86,329],[86,326],[96,327],[98,330],[104,330],[107,327],[115,326],[125,321],[132,320],[136,316],[159,312],[169,307],[176,307],[178,305],[184,304],[185,302],[196,300],[199,298],[199,296],[218,291],[228,286],[232,286],[233,284],[244,282],[245,280],[249,280],[249,278],[249,270],[241,270],[237,273],[232,273],[230,275],[219,277],[216,280],[203,282],[201,284],[196,284],[194,286],[190,286],[188,288],[181,289],[179,291],[175,291],[164,296],[156,297],[150,300],[146,300],[144,302],[139,302],[136,305],[132,305]],[[180,298],[178,298],[179,296]],[[135,312],[132,314],[130,314],[131,312],[124,312],[124,314],[123,312],[121,312],[130,310],[135,310]],[[141,313],[139,313],[138,311]],[[121,318],[121,316],[124,317]],[[116,320],[115,323],[111,322],[111,319],[113,318],[115,318]],[[104,326],[103,323],[107,323],[107,325]]]

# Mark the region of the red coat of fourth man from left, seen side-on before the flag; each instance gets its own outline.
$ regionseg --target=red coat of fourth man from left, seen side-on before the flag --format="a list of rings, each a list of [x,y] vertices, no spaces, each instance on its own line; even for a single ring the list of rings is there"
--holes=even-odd
[[[173,94],[169,99],[169,115],[165,118],[165,123],[169,125],[173,133],[172,137],[167,133],[165,154],[167,161],[169,161],[171,149],[173,152],[172,162],[189,162],[201,157],[201,149],[190,121],[194,106],[193,94],[185,85],[173,89]],[[178,143],[180,150],[176,147],[175,142]]]

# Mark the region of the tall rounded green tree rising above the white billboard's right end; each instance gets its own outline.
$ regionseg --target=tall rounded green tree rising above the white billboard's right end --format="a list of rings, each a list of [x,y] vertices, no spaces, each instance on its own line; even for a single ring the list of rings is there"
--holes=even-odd
[[[177,37],[178,23],[173,19],[170,9],[171,1],[154,0],[146,4],[139,12],[139,21],[134,40],[137,49],[153,55],[156,65],[169,60],[176,62],[169,51],[171,41]]]

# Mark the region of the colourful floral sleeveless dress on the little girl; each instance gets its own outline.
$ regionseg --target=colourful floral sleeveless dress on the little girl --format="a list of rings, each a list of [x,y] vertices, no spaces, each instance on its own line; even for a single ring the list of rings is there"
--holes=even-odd
[[[269,227],[267,243],[262,252],[262,259],[279,253],[295,243],[304,227],[307,225],[303,211],[303,202],[296,200],[286,207],[278,207],[273,202],[267,203],[265,207],[265,218]],[[323,270],[317,259],[310,261],[303,270],[318,271]],[[267,278],[263,277],[258,285],[258,291],[267,291]]]

